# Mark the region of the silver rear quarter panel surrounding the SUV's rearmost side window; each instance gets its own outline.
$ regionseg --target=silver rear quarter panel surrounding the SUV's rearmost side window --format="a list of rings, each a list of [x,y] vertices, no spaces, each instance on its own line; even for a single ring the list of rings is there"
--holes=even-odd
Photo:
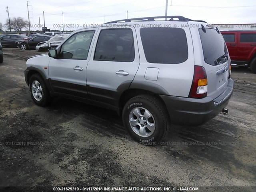
[[[152,24],[150,22],[148,23]],[[161,24],[163,27],[166,22],[158,22],[158,24]],[[134,82],[143,81],[155,84],[158,87],[162,87],[163,90],[166,90],[166,94],[168,93],[172,96],[188,97],[194,75],[194,51],[190,29],[188,27],[182,27],[186,25],[187,22],[168,22],[168,24],[172,26],[176,24],[177,28],[182,28],[185,31],[188,42],[188,59],[180,64],[148,63],[142,46],[140,28],[136,28],[140,53],[140,67],[134,78]],[[145,72],[147,68],[159,68],[157,80],[145,79]]]

